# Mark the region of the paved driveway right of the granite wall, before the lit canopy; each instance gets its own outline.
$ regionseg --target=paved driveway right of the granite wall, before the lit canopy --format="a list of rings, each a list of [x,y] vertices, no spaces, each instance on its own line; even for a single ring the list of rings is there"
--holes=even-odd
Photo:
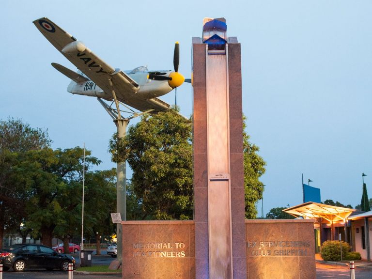
[[[349,266],[316,263],[316,279],[350,279]],[[372,269],[356,267],[356,279],[372,279]]]

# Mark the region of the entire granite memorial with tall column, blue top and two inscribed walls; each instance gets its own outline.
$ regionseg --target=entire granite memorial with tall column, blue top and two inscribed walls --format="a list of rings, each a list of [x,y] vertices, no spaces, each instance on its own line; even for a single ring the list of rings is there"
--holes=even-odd
[[[194,220],[123,221],[125,279],[315,279],[312,220],[245,220],[240,44],[192,39]]]

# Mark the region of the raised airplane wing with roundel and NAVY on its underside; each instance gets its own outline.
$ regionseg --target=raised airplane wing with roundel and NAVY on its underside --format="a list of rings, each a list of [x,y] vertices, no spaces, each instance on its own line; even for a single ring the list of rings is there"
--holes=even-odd
[[[134,94],[139,90],[139,84],[132,78],[102,61],[92,50],[47,17],[36,19],[33,23],[54,47],[109,95],[114,90],[118,98],[125,100],[130,99],[128,93]]]

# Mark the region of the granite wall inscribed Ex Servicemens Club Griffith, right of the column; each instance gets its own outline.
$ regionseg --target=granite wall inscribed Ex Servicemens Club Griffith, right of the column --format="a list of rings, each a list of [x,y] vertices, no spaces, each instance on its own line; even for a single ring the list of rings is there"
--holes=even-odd
[[[246,220],[248,279],[315,279],[314,221]]]

